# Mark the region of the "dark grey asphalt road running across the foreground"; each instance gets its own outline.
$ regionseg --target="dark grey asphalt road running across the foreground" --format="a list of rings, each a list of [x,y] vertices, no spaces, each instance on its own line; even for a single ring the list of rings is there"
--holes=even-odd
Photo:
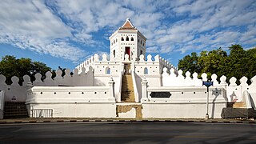
[[[255,124],[88,122],[0,125],[0,143],[256,143]]]

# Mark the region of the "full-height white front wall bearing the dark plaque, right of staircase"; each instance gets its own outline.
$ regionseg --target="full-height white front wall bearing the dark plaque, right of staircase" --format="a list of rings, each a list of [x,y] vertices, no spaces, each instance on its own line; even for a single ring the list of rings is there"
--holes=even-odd
[[[142,102],[143,118],[204,118],[206,87],[149,87],[148,101]],[[170,98],[151,98],[151,92],[170,92]],[[221,118],[226,107],[226,93],[221,86],[210,87],[210,118]]]

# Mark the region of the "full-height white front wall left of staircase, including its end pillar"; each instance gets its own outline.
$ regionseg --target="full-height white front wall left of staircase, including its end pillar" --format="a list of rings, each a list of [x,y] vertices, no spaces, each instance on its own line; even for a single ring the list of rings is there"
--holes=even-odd
[[[51,110],[53,118],[115,118],[113,80],[109,86],[34,86],[26,105],[30,117]],[[35,115],[38,116],[38,115]],[[41,115],[47,117],[47,115]]]

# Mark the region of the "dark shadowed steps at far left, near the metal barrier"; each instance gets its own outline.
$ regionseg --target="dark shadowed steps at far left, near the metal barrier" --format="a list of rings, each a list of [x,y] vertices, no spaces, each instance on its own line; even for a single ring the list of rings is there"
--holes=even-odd
[[[5,102],[3,118],[28,118],[25,102]]]

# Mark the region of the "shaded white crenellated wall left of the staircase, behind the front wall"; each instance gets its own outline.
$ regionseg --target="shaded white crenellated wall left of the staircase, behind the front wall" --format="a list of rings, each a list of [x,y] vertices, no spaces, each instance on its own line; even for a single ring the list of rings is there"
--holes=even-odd
[[[48,71],[44,80],[42,80],[42,74],[38,73],[34,75],[34,82],[31,82],[30,76],[24,75],[22,86],[18,84],[19,78],[16,76],[11,78],[11,85],[7,85],[6,77],[0,74],[0,90],[5,91],[5,101],[25,102],[26,90],[32,86],[94,86],[94,74],[91,67],[87,72],[82,68],[80,74],[77,69],[73,71],[73,75],[70,75],[70,72],[67,69],[62,77],[62,70],[57,70],[56,77],[52,78],[52,73]]]

